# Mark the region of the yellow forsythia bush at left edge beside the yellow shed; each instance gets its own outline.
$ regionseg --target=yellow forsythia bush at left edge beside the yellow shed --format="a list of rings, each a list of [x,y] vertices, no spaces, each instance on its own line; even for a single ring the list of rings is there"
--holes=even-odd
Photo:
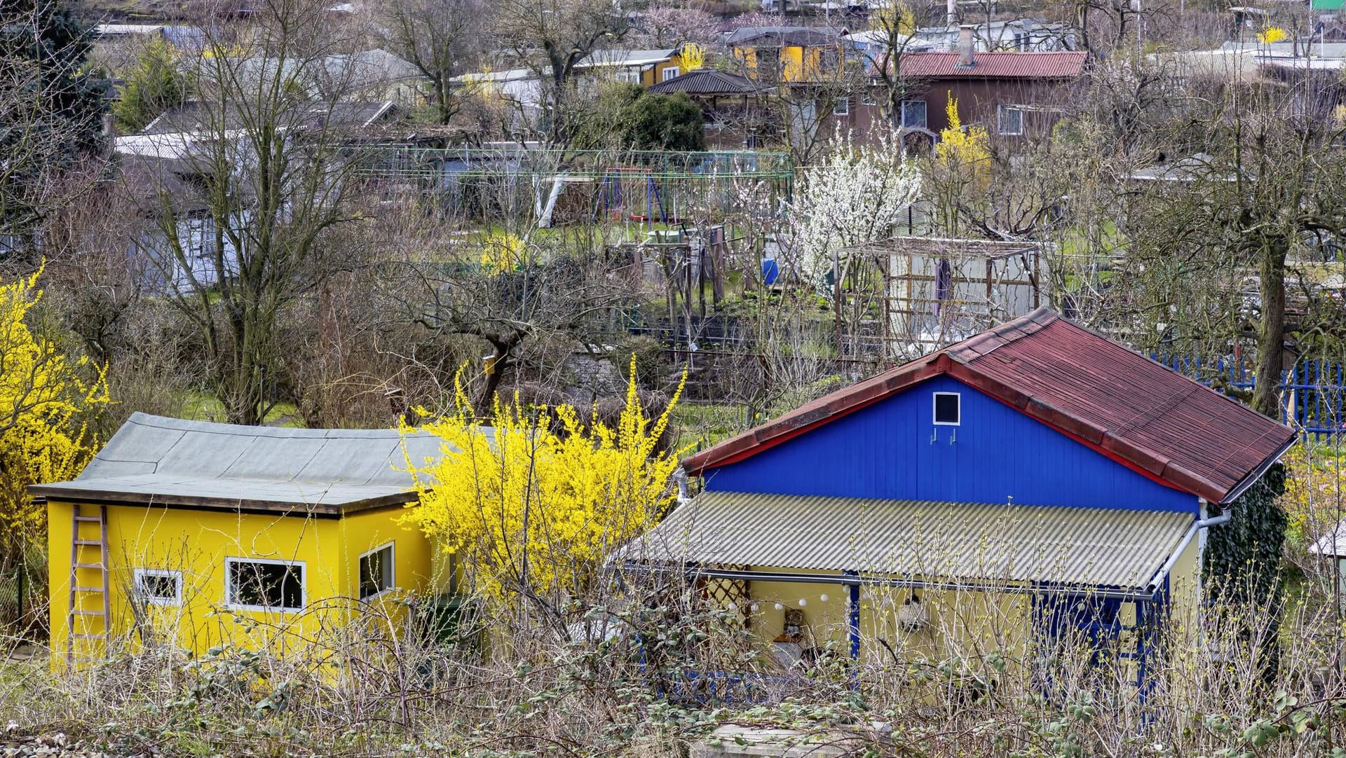
[[[0,566],[46,530],[27,487],[79,473],[97,452],[85,418],[108,402],[101,370],[30,328],[38,276],[0,284]]]

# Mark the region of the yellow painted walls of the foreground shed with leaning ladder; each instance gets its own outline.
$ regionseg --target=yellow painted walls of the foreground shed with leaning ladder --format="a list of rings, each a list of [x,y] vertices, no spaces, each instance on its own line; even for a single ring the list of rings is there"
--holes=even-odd
[[[83,505],[82,515],[97,515]],[[109,505],[108,546],[112,629],[132,645],[152,634],[159,641],[205,652],[222,642],[246,648],[295,644],[293,633],[312,637],[324,625],[336,628],[351,618],[358,593],[358,555],[396,540],[394,579],[404,590],[431,587],[429,546],[419,532],[396,523],[401,508],[358,513],[347,519],[289,515],[227,513],[163,505]],[[67,646],[70,602],[71,505],[48,501],[50,621],[54,659]],[[81,536],[97,538],[96,523],[82,523]],[[81,562],[98,562],[97,547],[82,547]],[[260,558],[304,564],[306,609],[241,610],[225,605],[225,559]],[[137,632],[128,601],[135,568],[180,571],[182,605],[151,605]],[[101,585],[96,568],[81,568],[77,582]],[[101,595],[79,593],[81,607],[97,610]],[[83,628],[79,628],[81,620]],[[77,617],[75,632],[101,632],[97,617]],[[100,641],[77,640],[77,653],[101,652]],[[92,645],[92,646],[90,646]]]

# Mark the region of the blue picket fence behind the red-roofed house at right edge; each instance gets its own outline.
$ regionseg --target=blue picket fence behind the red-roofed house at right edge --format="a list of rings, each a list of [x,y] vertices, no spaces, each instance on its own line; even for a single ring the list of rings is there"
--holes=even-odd
[[[1203,360],[1186,355],[1155,356],[1174,371],[1202,384],[1252,390],[1257,378],[1241,360]],[[1339,363],[1302,360],[1280,372],[1281,421],[1304,435],[1346,433],[1346,370]]]

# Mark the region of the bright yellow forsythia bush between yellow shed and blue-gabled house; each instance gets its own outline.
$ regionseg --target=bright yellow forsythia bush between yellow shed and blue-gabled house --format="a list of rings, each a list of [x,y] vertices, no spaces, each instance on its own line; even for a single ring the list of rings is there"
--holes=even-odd
[[[615,429],[571,406],[530,411],[501,402],[490,425],[474,419],[456,387],[458,410],[424,430],[440,457],[408,461],[419,503],[405,521],[475,570],[476,589],[505,602],[522,589],[586,591],[611,550],[650,527],[673,503],[678,457],[658,449],[677,403],[646,418],[635,392]],[[404,434],[413,431],[402,429]]]

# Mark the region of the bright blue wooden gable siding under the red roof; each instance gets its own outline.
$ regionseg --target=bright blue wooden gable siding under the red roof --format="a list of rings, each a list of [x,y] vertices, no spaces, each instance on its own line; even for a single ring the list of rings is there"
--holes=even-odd
[[[934,425],[935,391],[961,392],[960,426]],[[707,470],[705,488],[1198,511],[1197,496],[1147,478],[949,376],[935,376],[738,464]]]

